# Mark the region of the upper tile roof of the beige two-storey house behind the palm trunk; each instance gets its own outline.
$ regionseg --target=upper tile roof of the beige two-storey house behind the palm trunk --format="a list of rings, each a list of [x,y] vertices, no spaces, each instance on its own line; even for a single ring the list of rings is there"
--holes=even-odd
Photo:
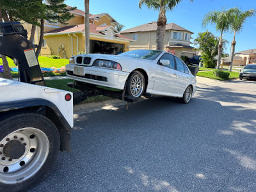
[[[124,31],[121,31],[120,33],[156,31],[156,29],[157,29],[157,22],[153,21],[153,22],[148,22],[147,24],[143,24],[141,26],[136,26],[136,27],[131,28],[131,29],[126,29]],[[166,24],[166,30],[187,31],[189,33],[193,33],[191,31],[189,31],[188,29],[185,29],[185,28],[182,28],[182,27],[178,26],[175,23]]]

